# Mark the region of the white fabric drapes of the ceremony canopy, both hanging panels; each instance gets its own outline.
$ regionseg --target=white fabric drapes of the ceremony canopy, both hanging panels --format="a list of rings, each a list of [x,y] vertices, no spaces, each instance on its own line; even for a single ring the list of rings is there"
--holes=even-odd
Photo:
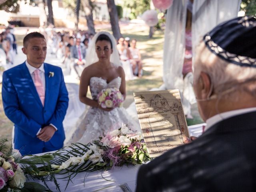
[[[194,0],[192,5],[192,50],[204,34],[214,26],[235,18],[241,0]],[[167,11],[164,34],[163,81],[166,89],[179,89],[185,114],[190,114],[190,104],[195,102],[192,90],[193,75],[183,79],[182,67],[185,55],[185,28],[189,0],[174,0]]]

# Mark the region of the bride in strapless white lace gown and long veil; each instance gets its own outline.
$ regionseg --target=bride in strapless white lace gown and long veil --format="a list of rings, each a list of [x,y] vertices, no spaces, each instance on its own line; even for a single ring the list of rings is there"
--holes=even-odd
[[[80,120],[72,134],[66,136],[65,145],[80,142],[87,144],[97,140],[103,133],[120,128],[126,124],[132,130],[140,130],[139,124],[129,118],[123,107],[102,108],[97,101],[97,95],[102,89],[117,88],[126,96],[125,74],[120,65],[116,40],[108,32],[97,33],[86,53],[86,67],[80,79],[80,101],[90,106]],[[88,86],[92,99],[87,97]]]

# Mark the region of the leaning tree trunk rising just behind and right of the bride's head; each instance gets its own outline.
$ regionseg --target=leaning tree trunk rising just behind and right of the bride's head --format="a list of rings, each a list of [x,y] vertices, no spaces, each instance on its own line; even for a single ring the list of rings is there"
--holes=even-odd
[[[122,34],[120,32],[119,28],[119,23],[118,23],[118,14],[116,10],[116,5],[114,0],[107,0],[108,4],[108,12],[110,16],[110,23],[111,23],[111,28],[113,31],[113,35],[116,39],[119,39],[122,37]]]

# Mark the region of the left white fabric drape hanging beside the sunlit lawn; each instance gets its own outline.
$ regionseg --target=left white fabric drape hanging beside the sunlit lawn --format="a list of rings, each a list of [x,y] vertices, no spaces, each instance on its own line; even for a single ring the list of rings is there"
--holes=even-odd
[[[163,81],[166,89],[183,87],[187,0],[174,0],[167,11],[164,34]],[[180,89],[180,91],[182,91]]]

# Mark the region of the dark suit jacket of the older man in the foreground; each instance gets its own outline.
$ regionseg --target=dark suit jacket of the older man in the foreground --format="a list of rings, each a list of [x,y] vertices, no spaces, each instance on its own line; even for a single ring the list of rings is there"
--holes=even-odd
[[[256,112],[218,122],[143,165],[136,192],[255,192]]]

